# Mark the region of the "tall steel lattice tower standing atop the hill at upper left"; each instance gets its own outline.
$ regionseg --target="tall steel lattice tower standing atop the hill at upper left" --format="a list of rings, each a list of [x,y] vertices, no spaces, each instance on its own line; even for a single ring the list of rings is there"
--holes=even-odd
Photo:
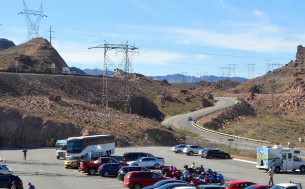
[[[33,38],[39,37],[39,24],[42,17],[47,17],[42,13],[42,4],[40,5],[39,11],[29,10],[26,7],[26,4],[23,0],[23,12],[18,13],[23,14],[25,16],[26,24],[27,24],[27,37],[26,42]]]

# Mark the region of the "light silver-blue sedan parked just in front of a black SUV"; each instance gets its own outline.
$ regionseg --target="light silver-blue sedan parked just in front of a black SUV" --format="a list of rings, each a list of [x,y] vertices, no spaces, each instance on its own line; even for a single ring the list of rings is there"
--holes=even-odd
[[[155,169],[159,169],[160,166],[164,166],[164,162],[162,160],[153,157],[143,157],[127,163],[129,166],[154,167]]]

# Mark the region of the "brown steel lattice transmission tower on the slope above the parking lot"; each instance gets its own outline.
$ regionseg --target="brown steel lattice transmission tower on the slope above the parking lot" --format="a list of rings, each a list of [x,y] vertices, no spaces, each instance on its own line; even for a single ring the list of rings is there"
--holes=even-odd
[[[102,90],[103,106],[106,106],[108,108],[109,101],[111,101],[114,102],[115,105],[117,105],[119,108],[131,112],[129,79],[130,79],[130,71],[132,71],[132,59],[134,54],[138,53],[139,48],[128,45],[128,41],[125,44],[120,44],[120,45],[108,44],[106,41],[104,41],[104,45],[90,47],[88,49],[93,49],[93,48],[104,49],[104,72],[103,72],[103,90]],[[123,55],[123,60],[121,60],[119,64],[114,64],[107,55],[107,53],[113,49],[115,49],[116,52],[121,52]],[[110,94],[110,91],[112,92],[115,90],[110,89],[110,85],[108,84],[109,69],[112,69],[116,72],[118,72],[119,70],[123,71],[120,73],[120,77],[123,79],[124,84],[120,88],[116,89],[116,91],[118,90],[118,92],[115,94]],[[115,87],[115,86],[111,85],[111,87]]]

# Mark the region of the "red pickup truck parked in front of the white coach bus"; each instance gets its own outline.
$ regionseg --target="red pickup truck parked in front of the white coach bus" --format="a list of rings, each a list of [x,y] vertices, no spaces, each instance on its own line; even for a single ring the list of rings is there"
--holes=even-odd
[[[89,175],[94,175],[98,171],[98,168],[105,163],[119,163],[121,166],[129,166],[128,163],[118,162],[115,159],[109,157],[100,157],[97,162],[98,163],[81,161],[78,171],[88,173]]]

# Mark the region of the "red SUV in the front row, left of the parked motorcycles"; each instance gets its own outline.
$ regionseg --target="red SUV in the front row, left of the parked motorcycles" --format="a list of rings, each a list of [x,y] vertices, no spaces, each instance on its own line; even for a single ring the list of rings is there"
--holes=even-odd
[[[159,173],[152,171],[133,171],[128,172],[124,176],[123,185],[132,189],[140,189],[142,187],[153,185],[156,182],[165,179],[172,178],[162,176]]]

